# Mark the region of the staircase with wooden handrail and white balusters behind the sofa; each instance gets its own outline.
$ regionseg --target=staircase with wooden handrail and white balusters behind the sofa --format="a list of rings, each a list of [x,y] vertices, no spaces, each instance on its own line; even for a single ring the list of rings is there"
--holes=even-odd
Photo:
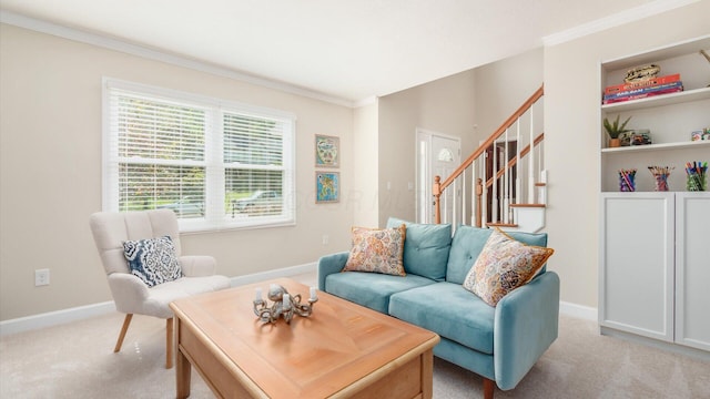
[[[529,233],[545,227],[542,96],[540,86],[450,176],[435,176],[436,223],[470,218],[477,227]],[[447,190],[460,192],[462,201],[447,200]]]

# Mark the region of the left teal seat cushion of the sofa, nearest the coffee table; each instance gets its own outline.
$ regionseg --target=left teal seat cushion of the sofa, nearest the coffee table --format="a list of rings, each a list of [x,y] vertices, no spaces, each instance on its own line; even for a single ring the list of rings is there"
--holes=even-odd
[[[389,308],[389,296],[435,282],[414,274],[406,277],[376,273],[335,273],[325,278],[325,291],[383,314]],[[468,293],[468,296],[471,296]]]

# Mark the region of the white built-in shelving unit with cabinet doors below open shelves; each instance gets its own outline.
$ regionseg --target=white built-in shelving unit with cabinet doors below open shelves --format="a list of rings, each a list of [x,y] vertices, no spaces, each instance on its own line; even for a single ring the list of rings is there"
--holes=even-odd
[[[710,141],[691,132],[710,127],[710,35],[604,61],[604,88],[648,63],[660,75],[680,73],[684,91],[599,106],[600,253],[599,325],[710,359],[710,193],[686,191],[686,162],[710,162]],[[653,144],[608,147],[601,121],[631,116],[628,129],[648,129]],[[648,166],[674,167],[669,192],[655,192]],[[618,171],[637,168],[633,193],[619,192]]]

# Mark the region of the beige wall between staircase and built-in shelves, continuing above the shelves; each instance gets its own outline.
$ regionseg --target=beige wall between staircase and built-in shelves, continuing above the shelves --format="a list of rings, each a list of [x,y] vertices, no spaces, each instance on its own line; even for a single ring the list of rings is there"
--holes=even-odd
[[[545,49],[549,265],[562,300],[598,304],[599,62],[708,34],[708,16],[701,1]]]

